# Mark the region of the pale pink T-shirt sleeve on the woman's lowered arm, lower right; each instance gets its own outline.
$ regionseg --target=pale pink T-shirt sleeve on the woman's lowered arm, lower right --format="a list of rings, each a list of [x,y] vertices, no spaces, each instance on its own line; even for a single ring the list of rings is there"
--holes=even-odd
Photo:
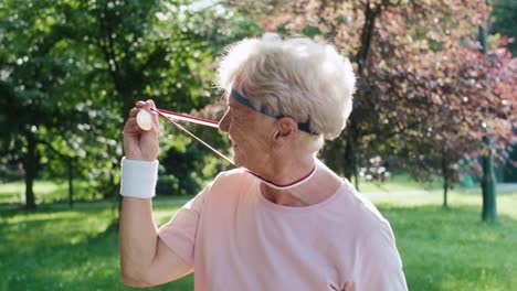
[[[408,290],[402,260],[389,223],[382,222],[377,231],[366,237],[359,247],[356,290]]]

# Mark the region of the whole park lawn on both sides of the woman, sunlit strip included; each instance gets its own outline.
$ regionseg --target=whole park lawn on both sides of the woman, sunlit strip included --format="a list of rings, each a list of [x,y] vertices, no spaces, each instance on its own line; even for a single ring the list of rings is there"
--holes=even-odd
[[[0,185],[0,197],[9,187]],[[455,190],[451,207],[443,209],[436,190],[363,188],[391,222],[410,290],[517,285],[517,193],[499,193],[499,220],[488,225],[479,222],[477,190]],[[157,222],[165,223],[182,200],[159,200]],[[0,290],[130,290],[119,282],[117,233],[109,228],[114,217],[109,203],[1,211]],[[192,276],[151,290],[193,290]]]

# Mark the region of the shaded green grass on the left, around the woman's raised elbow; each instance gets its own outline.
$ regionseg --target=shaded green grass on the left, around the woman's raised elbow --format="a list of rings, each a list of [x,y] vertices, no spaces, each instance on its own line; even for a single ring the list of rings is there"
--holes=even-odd
[[[129,290],[119,282],[118,237],[109,207],[0,215],[0,290]],[[177,207],[157,207],[160,224]],[[193,277],[151,290],[192,290]]]

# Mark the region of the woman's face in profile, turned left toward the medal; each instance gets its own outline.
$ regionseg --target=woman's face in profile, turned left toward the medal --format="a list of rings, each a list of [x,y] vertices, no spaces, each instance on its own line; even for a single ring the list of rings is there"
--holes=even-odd
[[[219,128],[230,136],[233,162],[260,171],[271,157],[275,119],[254,111],[231,96],[228,106]]]

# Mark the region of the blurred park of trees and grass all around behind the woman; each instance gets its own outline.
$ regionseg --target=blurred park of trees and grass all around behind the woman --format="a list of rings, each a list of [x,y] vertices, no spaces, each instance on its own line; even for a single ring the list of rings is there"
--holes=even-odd
[[[391,222],[410,290],[517,285],[517,1],[0,1],[0,290],[124,290],[122,129],[140,99],[218,120],[225,47],[328,41],[354,111],[319,158]],[[158,224],[231,166],[161,122]],[[186,125],[230,154],[228,138]],[[193,290],[192,276],[157,290]]]

